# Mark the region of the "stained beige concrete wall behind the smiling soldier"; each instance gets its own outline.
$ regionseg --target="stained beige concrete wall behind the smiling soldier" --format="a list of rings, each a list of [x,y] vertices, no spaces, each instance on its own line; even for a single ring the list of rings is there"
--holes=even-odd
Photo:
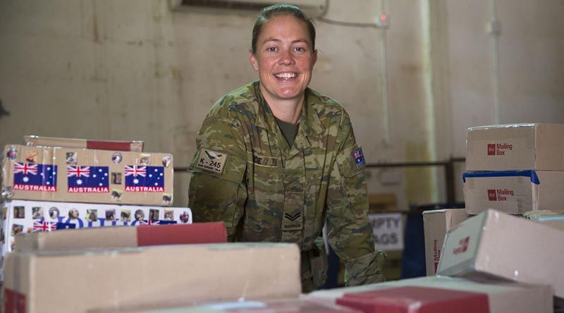
[[[317,21],[312,80],[349,111],[369,163],[464,156],[472,125],[564,123],[563,1],[330,0],[324,18],[372,23],[379,12],[388,30]],[[498,36],[486,31],[494,13]],[[166,0],[0,0],[0,99],[10,113],[0,144],[137,139],[185,166],[209,106],[257,78],[247,61],[254,21],[173,12]],[[402,208],[444,202],[443,174],[372,169],[369,190],[395,193]],[[185,206],[188,175],[175,182]]]

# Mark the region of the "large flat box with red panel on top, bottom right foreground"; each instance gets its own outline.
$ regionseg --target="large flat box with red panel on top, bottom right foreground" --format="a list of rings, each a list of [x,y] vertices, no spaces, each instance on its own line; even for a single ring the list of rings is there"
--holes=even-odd
[[[366,286],[319,290],[306,296],[374,312],[548,313],[550,286],[427,276]]]

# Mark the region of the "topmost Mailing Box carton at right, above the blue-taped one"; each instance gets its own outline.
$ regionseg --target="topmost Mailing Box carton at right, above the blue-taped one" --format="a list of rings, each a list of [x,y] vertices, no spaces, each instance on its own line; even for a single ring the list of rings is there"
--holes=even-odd
[[[468,128],[467,171],[564,171],[564,125],[510,124]]]

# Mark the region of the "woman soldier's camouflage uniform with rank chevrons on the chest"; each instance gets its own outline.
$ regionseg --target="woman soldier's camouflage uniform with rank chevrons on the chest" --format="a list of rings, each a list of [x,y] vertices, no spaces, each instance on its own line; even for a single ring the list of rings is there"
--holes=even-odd
[[[383,281],[367,218],[364,160],[345,109],[314,90],[293,147],[252,82],[219,99],[197,135],[188,192],[194,221],[223,221],[230,241],[297,243],[309,291],[326,276],[314,240],[327,221],[329,244],[348,285]],[[358,154],[357,154],[358,156]],[[362,156],[362,152],[360,152]]]

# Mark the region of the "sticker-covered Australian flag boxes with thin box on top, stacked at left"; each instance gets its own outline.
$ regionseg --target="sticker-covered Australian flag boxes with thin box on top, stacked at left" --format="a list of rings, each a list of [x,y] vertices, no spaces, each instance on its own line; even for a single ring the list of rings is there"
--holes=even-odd
[[[15,235],[64,228],[192,223],[173,201],[173,157],[138,141],[26,136],[2,164],[2,254]]]

